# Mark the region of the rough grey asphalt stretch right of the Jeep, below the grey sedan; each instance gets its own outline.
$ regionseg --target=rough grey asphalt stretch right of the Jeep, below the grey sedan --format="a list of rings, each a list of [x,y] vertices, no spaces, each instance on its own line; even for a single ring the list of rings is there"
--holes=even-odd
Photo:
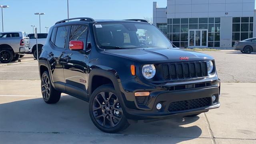
[[[215,58],[222,82],[256,82],[256,53],[242,54],[235,50],[203,52]]]

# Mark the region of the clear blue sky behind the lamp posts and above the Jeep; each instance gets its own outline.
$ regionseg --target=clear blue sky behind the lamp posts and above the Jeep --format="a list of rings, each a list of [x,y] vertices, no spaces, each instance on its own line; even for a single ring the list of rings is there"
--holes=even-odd
[[[69,17],[92,17],[94,19],[129,19],[153,17],[153,2],[159,7],[166,7],[167,0],[69,0]],[[4,31],[25,31],[32,33],[31,25],[39,30],[39,16],[36,12],[44,12],[41,16],[41,32],[46,32],[55,22],[67,18],[66,0],[0,0],[4,8]],[[2,32],[2,19],[0,19]],[[39,32],[39,31],[38,31]]]

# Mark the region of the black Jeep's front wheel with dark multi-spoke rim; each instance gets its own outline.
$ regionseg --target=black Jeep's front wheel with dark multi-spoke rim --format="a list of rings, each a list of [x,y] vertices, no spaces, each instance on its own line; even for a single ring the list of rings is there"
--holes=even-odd
[[[130,125],[124,116],[116,91],[110,84],[94,90],[89,102],[89,114],[94,125],[103,132],[119,132]]]

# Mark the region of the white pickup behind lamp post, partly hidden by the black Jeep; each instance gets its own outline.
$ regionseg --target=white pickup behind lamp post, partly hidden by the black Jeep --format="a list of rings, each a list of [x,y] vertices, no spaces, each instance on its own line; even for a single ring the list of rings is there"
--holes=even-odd
[[[44,46],[45,42],[46,42],[46,38],[47,38],[47,33],[40,33],[37,34],[37,43],[38,43],[38,56],[40,56],[41,52],[42,52],[42,47]],[[32,54],[34,56],[34,58],[36,58],[37,54],[36,54],[36,38],[35,38],[35,34],[28,34],[28,37],[30,38],[30,47],[32,48]]]

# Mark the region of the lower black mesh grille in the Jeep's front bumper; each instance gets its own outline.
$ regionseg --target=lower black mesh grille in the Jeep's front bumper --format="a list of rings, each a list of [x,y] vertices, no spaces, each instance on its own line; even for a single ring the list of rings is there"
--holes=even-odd
[[[193,100],[183,100],[170,103],[168,107],[169,112],[179,112],[183,110],[192,110],[196,108],[203,108],[212,104],[212,98],[197,98]]]

